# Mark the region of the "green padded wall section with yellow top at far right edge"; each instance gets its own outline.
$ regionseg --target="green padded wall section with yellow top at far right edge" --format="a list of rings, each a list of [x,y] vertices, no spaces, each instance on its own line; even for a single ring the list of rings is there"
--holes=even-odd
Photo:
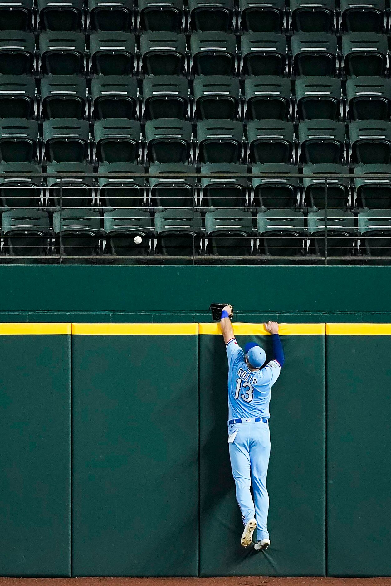
[[[389,576],[391,325],[327,327],[328,575]]]

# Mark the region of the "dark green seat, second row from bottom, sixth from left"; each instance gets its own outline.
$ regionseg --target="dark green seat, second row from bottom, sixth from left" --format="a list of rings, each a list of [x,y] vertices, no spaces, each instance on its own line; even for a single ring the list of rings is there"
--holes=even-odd
[[[298,205],[299,177],[297,167],[287,163],[256,163],[251,172],[256,207],[281,209]]]

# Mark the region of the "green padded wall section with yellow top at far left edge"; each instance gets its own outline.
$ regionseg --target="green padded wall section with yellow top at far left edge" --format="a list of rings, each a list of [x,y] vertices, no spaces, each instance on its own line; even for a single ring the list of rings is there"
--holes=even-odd
[[[70,323],[0,326],[0,575],[70,576]]]

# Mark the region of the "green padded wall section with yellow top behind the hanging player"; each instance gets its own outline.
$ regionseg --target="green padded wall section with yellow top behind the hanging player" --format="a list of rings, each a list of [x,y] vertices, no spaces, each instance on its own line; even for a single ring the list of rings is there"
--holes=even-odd
[[[270,336],[255,335],[263,326],[233,326],[239,345],[256,341],[270,356]],[[202,333],[213,328],[200,324],[200,575],[325,575],[325,336],[290,335],[294,328],[285,326],[285,366],[270,404],[271,546],[257,553],[240,546],[225,345],[221,334]],[[322,324],[314,328],[324,331]]]

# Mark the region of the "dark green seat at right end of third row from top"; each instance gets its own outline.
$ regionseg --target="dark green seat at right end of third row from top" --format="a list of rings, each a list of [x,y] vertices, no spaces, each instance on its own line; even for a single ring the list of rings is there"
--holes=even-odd
[[[351,120],[389,120],[391,80],[383,77],[351,77],[346,80],[348,117]]]

